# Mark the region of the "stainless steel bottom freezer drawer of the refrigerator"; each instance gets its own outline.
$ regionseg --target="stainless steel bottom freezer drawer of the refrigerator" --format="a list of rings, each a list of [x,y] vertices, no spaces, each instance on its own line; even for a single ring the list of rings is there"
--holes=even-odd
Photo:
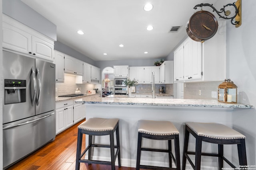
[[[3,167],[55,139],[55,110],[3,125]]]

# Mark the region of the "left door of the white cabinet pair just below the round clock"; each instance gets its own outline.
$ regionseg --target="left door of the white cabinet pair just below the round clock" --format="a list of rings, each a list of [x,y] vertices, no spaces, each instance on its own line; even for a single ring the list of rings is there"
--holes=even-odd
[[[193,55],[192,55],[192,39],[187,39],[184,42],[184,80],[192,80],[192,65],[193,65]]]

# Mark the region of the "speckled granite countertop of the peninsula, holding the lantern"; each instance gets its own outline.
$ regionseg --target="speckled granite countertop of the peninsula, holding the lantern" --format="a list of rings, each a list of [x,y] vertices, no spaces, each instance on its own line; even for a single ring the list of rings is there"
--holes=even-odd
[[[178,106],[178,107],[226,107],[226,108],[252,108],[248,104],[225,104],[218,100],[198,99],[159,99],[159,98],[101,98],[88,96],[75,100],[76,103],[85,104],[115,104],[115,105],[144,105],[144,106]]]

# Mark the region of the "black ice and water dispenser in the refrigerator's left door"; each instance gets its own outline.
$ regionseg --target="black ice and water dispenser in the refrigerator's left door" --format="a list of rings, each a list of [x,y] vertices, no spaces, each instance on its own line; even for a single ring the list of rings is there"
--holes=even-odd
[[[26,102],[26,80],[4,79],[4,104]]]

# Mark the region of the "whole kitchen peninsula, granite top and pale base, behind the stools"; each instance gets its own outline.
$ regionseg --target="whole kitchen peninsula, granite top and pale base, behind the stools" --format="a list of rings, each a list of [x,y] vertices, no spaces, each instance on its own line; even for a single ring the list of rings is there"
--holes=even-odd
[[[185,122],[216,122],[232,127],[232,113],[235,109],[253,107],[244,104],[224,104],[217,100],[99,98],[98,96],[88,96],[75,100],[75,102],[86,104],[86,119],[91,117],[120,119],[121,165],[128,167],[135,167],[136,165],[137,129],[140,119],[172,121],[180,132],[180,152],[182,153]],[[108,143],[109,141],[108,136],[95,137],[94,140],[95,143]],[[195,145],[193,137],[190,139],[190,144],[189,149],[193,150],[194,147],[192,146]],[[86,140],[87,145],[88,141]],[[167,142],[143,139],[142,145],[164,149],[167,147]],[[203,152],[217,152],[217,149],[216,145],[209,143],[204,143],[202,147]],[[224,152],[227,158],[235,160],[235,165],[238,165],[235,145],[225,146]],[[167,154],[149,153],[142,152],[142,164],[168,166]],[[109,160],[109,150],[106,152],[100,150],[99,152],[98,148],[95,148],[94,159]],[[217,165],[217,158],[202,157],[202,169],[212,169],[213,166],[216,167]],[[189,167],[189,165],[187,166]]]

